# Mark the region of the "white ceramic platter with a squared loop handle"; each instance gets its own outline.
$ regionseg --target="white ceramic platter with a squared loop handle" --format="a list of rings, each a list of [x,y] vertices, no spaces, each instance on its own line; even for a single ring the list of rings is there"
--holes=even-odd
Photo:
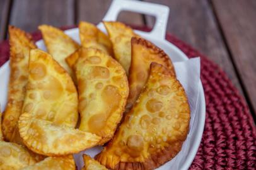
[[[158,47],[162,48],[166,54],[168,54],[173,62],[188,60],[187,56],[183,54],[175,45],[165,40],[166,25],[168,22],[169,8],[160,4],[145,3],[142,1],[131,1],[131,0],[114,0],[107,14],[103,18],[104,21],[115,21],[120,11],[133,11],[136,13],[149,14],[156,17],[156,24],[151,32],[137,31],[136,33],[141,35],[141,37],[153,42]],[[98,25],[102,31],[105,31],[102,23]],[[79,40],[79,30],[78,28],[73,28],[66,30],[65,33],[72,37],[77,42]],[[45,50],[45,45],[42,40],[37,42],[38,48]],[[7,103],[7,93],[8,93],[8,81],[9,81],[9,61],[6,62],[0,68],[0,104],[1,109],[4,110]],[[183,162],[180,162],[181,169],[188,169],[192,163],[199,144],[202,138],[202,132],[204,130],[204,122],[206,114],[206,104],[204,99],[204,90],[202,88],[202,82],[199,82],[199,99],[197,102],[197,113],[195,113],[195,124],[191,130],[191,140],[189,145],[189,152]],[[172,161],[170,161],[171,163]],[[162,166],[160,169],[170,169],[168,168],[169,162]]]

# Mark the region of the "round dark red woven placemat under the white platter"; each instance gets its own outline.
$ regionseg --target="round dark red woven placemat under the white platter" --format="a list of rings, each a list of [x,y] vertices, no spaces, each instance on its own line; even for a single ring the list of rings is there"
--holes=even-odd
[[[63,30],[74,26],[62,27]],[[149,28],[138,28],[149,31]],[[33,33],[35,41],[42,36]],[[201,58],[201,81],[206,97],[206,124],[190,169],[256,169],[256,128],[245,100],[218,65],[167,34],[189,58]],[[8,41],[0,43],[0,66],[9,58]]]

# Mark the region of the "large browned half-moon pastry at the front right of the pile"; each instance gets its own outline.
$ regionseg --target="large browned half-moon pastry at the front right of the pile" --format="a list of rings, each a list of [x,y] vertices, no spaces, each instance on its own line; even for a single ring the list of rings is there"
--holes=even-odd
[[[176,156],[187,137],[190,109],[172,74],[151,64],[139,99],[96,160],[110,169],[154,169]]]

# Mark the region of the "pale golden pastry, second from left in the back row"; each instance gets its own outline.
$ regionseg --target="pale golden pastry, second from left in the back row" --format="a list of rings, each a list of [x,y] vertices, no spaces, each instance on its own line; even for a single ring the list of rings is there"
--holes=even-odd
[[[64,31],[50,25],[40,25],[38,29],[42,32],[47,51],[57,62],[73,76],[73,72],[66,64],[65,58],[79,48],[72,38],[67,36]]]

